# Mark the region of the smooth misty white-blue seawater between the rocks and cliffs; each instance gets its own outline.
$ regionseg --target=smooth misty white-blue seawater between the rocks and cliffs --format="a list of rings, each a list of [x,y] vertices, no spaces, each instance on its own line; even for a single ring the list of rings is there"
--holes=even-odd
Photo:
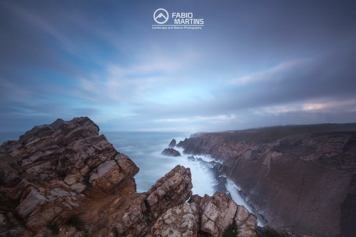
[[[24,132],[0,132],[0,142],[8,139],[19,139],[19,135]],[[118,152],[128,155],[133,162],[140,168],[140,171],[134,177],[138,192],[148,191],[158,179],[163,177],[177,164],[189,167],[192,174],[193,194],[204,196],[208,194],[213,196],[216,191],[214,186],[218,184],[210,167],[202,162],[188,159],[190,155],[183,154],[183,149],[175,147],[181,157],[168,157],[161,154],[163,149],[168,147],[171,139],[175,138],[177,142],[189,137],[190,134],[184,132],[101,132],[106,136],[108,142],[113,144],[113,147]],[[205,162],[216,161],[215,159],[199,155]],[[233,181],[228,179],[225,184],[226,189],[230,192],[233,200],[245,206],[248,211],[254,212],[250,205],[240,196],[238,186]],[[263,226],[263,222],[258,219],[258,225]]]

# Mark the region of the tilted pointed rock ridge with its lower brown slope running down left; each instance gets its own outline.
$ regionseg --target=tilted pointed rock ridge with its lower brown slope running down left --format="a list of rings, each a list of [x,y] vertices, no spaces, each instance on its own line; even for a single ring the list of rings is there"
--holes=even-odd
[[[122,194],[86,218],[94,220],[94,226],[102,226],[93,231],[94,236],[145,236],[150,231],[148,226],[152,226],[158,216],[190,197],[191,188],[190,170],[177,166],[158,179],[147,193],[139,196]]]

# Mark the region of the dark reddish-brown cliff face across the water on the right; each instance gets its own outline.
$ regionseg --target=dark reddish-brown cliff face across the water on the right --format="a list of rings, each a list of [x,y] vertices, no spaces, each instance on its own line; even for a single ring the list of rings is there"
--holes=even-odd
[[[223,159],[221,172],[278,228],[355,236],[356,125],[208,133],[178,146]]]

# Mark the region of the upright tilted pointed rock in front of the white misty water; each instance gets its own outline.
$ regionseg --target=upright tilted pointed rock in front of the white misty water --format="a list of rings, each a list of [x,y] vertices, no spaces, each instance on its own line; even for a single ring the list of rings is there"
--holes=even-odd
[[[156,220],[167,209],[183,204],[192,195],[192,188],[190,169],[177,165],[147,191],[148,220]]]

